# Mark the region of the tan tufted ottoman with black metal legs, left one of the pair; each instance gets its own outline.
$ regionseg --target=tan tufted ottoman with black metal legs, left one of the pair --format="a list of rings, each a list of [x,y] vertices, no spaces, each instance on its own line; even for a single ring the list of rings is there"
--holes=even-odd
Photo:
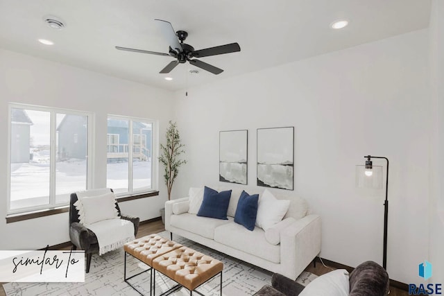
[[[135,286],[130,284],[128,281],[133,277],[137,277],[137,275],[141,275],[144,272],[150,271],[150,295],[153,290],[153,260],[157,258],[157,256],[161,256],[162,254],[166,254],[171,252],[172,250],[176,250],[182,245],[175,243],[173,241],[169,241],[167,238],[163,238],[162,236],[158,236],[157,234],[150,234],[148,236],[144,236],[142,238],[135,239],[134,241],[130,241],[123,245],[123,250],[125,250],[125,265],[123,270],[123,280],[126,281],[128,285],[130,285],[133,289],[137,290]],[[133,275],[131,277],[126,277],[126,255],[130,254],[131,256],[139,259],[146,265],[150,266],[148,270],[144,270],[143,272],[139,272],[137,275]],[[140,294],[142,294],[139,290],[137,290]]]

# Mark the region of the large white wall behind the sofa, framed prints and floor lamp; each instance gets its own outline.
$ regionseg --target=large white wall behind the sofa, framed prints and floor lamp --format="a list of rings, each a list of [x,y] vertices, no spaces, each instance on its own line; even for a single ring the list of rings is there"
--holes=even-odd
[[[177,92],[188,164],[173,196],[218,183],[219,131],[248,129],[254,186],[256,129],[294,126],[293,194],[323,219],[321,256],[382,264],[385,191],[355,189],[355,165],[368,154],[388,157],[388,272],[416,281],[428,253],[428,37],[416,31]]]

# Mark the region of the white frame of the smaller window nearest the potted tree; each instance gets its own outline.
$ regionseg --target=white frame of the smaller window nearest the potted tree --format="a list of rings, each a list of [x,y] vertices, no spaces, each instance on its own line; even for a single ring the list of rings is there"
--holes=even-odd
[[[121,116],[121,115],[113,115],[108,114],[107,116],[107,131],[108,131],[108,119],[115,120],[124,120],[128,121],[128,139],[131,139],[130,143],[128,143],[128,192],[116,193],[117,196],[130,196],[130,195],[138,195],[142,193],[148,193],[158,190],[158,162],[155,161],[158,156],[158,122],[155,119],[143,119],[139,117],[131,117],[131,116]],[[133,134],[133,121],[148,123],[151,124],[151,188],[144,190],[133,190],[133,143],[134,143],[134,134]],[[109,134],[107,132],[107,134]],[[146,137],[145,137],[146,141]],[[129,141],[128,141],[129,142]],[[145,143],[146,144],[146,143]],[[108,144],[107,144],[108,146]],[[107,162],[108,166],[108,162]],[[108,170],[108,168],[107,168]],[[106,177],[106,182],[108,183],[108,175]]]

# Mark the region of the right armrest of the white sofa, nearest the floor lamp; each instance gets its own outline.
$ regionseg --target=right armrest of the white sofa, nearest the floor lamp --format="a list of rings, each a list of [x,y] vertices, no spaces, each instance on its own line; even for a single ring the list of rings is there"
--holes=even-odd
[[[280,232],[280,273],[296,279],[319,252],[321,217],[312,214],[296,220]]]

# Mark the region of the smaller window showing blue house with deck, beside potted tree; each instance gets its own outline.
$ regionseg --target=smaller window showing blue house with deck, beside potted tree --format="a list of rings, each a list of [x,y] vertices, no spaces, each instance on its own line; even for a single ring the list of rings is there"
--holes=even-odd
[[[107,187],[115,193],[153,189],[153,127],[149,119],[108,116]]]

